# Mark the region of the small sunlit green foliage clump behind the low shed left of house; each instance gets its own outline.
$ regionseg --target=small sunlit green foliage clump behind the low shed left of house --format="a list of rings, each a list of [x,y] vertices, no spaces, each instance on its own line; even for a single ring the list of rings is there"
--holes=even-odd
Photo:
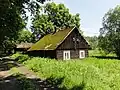
[[[18,38],[17,38],[17,42],[21,43],[21,42],[32,42],[32,33],[28,30],[21,30],[18,33]]]

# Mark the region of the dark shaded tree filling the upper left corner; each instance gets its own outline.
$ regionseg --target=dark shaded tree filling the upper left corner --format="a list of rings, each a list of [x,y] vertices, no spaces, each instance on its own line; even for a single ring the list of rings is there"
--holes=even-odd
[[[0,49],[25,27],[26,11],[34,14],[45,0],[0,0]],[[7,44],[6,42],[6,44]],[[6,45],[8,46],[8,45]]]

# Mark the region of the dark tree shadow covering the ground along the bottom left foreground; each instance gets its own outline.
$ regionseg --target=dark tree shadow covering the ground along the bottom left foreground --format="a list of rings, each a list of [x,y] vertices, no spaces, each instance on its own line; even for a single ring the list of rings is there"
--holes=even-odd
[[[0,90],[58,90],[60,89],[58,85],[62,80],[62,78],[40,80],[39,78],[21,78],[11,75],[0,81]]]

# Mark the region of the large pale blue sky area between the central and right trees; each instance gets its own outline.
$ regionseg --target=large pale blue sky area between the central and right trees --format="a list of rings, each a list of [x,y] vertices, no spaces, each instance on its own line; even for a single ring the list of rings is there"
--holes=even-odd
[[[99,34],[102,17],[110,9],[120,5],[120,0],[53,0],[63,3],[73,14],[80,14],[81,29],[86,36]]]

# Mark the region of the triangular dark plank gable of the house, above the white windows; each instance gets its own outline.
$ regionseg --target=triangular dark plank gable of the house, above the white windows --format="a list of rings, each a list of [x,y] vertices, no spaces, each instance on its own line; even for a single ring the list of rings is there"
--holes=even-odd
[[[88,49],[89,44],[84,37],[79,33],[75,27],[73,30],[64,38],[61,44],[58,45],[58,50],[70,50],[70,49]]]

